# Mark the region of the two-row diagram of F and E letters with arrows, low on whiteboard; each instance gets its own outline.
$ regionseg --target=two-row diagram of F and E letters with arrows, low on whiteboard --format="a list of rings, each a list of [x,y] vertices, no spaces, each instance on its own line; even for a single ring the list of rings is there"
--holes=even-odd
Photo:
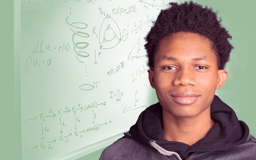
[[[41,142],[24,149],[23,152],[28,152],[34,149],[51,150],[54,148],[54,143],[68,143],[72,140],[72,138],[85,137],[87,132],[99,131],[101,127],[109,125],[112,122],[111,120],[104,121],[102,123],[96,123],[95,121],[97,117],[95,109],[97,109],[97,107],[99,106],[105,107],[106,105],[106,102],[99,103],[97,101],[94,101],[87,105],[81,105],[81,103],[79,103],[76,107],[68,107],[66,105],[64,109],[53,110],[52,108],[50,108],[47,112],[42,112],[32,118],[23,120],[23,123],[29,124],[29,122],[34,121],[36,123],[39,123],[41,126],[41,137],[38,138]],[[82,121],[79,118],[80,116],[84,115],[81,114],[81,112],[87,111],[88,109],[91,109],[92,111],[92,125],[89,125],[88,123]],[[72,119],[73,122],[70,121]],[[51,123],[49,123],[50,121]],[[79,123],[87,124],[87,126],[81,124],[79,125]],[[73,131],[70,130],[70,126],[72,125]],[[53,133],[56,131],[58,131],[59,135]],[[55,135],[56,138],[51,139],[50,137],[52,137],[52,135]]]

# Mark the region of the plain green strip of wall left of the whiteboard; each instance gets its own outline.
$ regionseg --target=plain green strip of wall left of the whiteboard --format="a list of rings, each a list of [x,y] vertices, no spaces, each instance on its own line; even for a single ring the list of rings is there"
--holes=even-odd
[[[12,0],[0,2],[0,159],[21,159],[21,117],[14,108],[14,32]]]

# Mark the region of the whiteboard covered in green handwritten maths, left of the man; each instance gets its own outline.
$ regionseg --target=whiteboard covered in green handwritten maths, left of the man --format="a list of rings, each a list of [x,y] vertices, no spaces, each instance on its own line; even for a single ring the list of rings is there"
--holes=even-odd
[[[144,37],[169,2],[19,1],[24,160],[100,145],[155,103]]]

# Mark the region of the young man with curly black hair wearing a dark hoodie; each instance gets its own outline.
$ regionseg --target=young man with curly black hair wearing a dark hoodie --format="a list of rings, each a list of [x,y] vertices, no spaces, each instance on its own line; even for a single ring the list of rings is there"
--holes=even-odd
[[[146,37],[159,103],[143,111],[100,160],[256,160],[256,139],[215,90],[233,46],[211,8],[170,3]]]

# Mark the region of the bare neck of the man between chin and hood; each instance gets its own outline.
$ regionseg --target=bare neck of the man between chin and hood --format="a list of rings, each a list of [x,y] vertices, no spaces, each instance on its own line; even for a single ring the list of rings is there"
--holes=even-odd
[[[163,110],[163,139],[193,145],[204,138],[214,124],[210,107],[193,118],[177,118]]]

